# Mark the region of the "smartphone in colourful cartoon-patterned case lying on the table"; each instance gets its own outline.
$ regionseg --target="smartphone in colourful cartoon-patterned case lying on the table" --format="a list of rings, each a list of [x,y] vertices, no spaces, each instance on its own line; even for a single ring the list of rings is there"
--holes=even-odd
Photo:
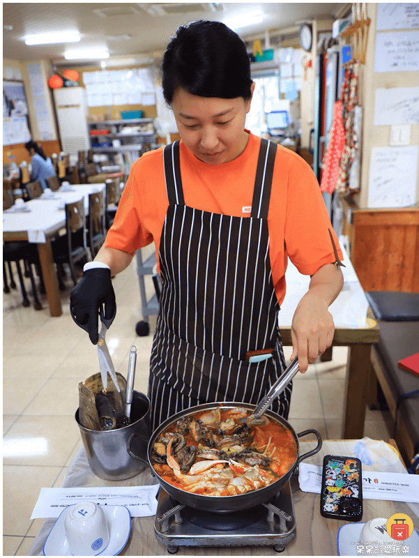
[[[325,455],[320,513],[325,518],[360,521],[363,518],[363,475],[358,458]]]

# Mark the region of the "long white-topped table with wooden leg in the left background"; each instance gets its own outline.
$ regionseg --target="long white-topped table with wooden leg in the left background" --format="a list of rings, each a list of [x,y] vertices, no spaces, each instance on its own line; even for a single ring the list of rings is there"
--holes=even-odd
[[[84,199],[84,210],[89,213],[89,194],[105,189],[101,184],[75,184],[70,191],[61,189],[54,197],[31,199],[24,204],[27,213],[3,211],[3,241],[30,240],[37,244],[45,290],[52,316],[61,316],[61,297],[52,258],[51,239],[66,226],[64,204]]]

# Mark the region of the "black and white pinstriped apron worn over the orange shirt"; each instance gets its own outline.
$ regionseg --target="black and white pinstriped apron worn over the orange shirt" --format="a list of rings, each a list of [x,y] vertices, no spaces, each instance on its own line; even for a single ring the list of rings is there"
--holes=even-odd
[[[252,211],[242,218],[185,205],[178,143],[164,150],[169,208],[148,383],[153,430],[202,403],[257,404],[285,368],[267,220],[276,144],[261,140]],[[272,358],[246,361],[247,352],[268,348]],[[271,409],[287,418],[290,399],[291,384]]]

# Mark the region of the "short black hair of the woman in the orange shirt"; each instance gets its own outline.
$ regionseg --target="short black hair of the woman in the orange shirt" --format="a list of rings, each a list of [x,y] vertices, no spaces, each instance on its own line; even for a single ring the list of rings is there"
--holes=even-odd
[[[161,71],[168,105],[178,87],[199,97],[247,100],[252,96],[245,43],[221,22],[199,20],[178,27],[163,55]]]

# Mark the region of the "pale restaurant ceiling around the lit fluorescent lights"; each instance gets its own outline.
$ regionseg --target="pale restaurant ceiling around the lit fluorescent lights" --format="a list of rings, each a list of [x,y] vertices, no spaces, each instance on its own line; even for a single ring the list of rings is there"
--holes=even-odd
[[[239,30],[246,34],[282,29],[300,20],[334,17],[348,3],[3,3],[3,56],[29,61],[63,60],[68,48],[107,47],[111,56],[152,53],[164,49],[181,24],[196,19],[224,21],[259,9],[261,24]],[[79,43],[26,46],[31,34],[73,31]]]

